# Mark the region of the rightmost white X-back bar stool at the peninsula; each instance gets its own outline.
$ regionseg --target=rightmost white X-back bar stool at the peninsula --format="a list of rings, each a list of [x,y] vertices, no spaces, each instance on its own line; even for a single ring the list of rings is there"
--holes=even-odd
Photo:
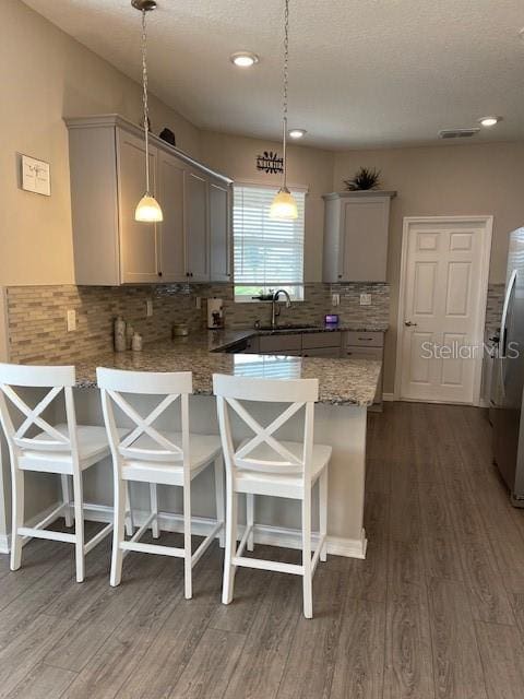
[[[312,578],[317,564],[326,559],[327,464],[331,447],[313,445],[314,402],[319,398],[317,379],[250,379],[213,376],[217,396],[218,424],[226,461],[226,552],[224,559],[224,604],[233,601],[237,566],[261,568],[302,576],[303,615],[313,615]],[[242,401],[289,404],[271,425],[262,425],[246,410]],[[275,434],[303,408],[303,440],[278,441]],[[253,433],[235,448],[230,412]],[[320,532],[311,557],[311,490],[319,482]],[[237,494],[247,498],[247,526],[237,546]],[[291,565],[242,556],[247,546],[253,550],[254,496],[270,495],[301,500],[302,564]]]

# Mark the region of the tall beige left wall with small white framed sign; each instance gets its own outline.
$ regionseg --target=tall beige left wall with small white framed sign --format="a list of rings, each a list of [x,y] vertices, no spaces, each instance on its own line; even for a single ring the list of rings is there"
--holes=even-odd
[[[0,285],[73,281],[68,132],[63,116],[141,115],[141,87],[19,0],[0,0]],[[199,155],[199,131],[152,98],[156,133]],[[17,153],[51,165],[51,197],[17,187]]]

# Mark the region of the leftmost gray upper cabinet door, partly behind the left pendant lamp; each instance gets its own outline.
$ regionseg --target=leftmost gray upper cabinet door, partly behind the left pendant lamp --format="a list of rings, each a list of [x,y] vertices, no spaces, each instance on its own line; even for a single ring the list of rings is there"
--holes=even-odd
[[[158,282],[156,226],[134,220],[134,210],[145,190],[145,145],[132,133],[118,130],[117,134],[121,280],[127,284]],[[156,163],[157,151],[151,147],[152,192],[156,192]]]

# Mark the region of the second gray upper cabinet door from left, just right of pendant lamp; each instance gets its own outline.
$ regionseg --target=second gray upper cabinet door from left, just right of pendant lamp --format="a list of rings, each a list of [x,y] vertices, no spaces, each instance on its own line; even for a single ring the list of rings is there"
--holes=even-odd
[[[183,165],[169,153],[158,153],[158,202],[164,213],[158,224],[158,270],[163,282],[186,281],[183,232]]]

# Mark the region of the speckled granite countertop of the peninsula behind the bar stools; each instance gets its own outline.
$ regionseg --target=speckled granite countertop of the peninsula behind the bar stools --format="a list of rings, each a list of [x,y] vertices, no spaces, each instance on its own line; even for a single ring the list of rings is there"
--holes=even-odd
[[[76,362],[76,387],[96,387],[96,367],[138,371],[192,371],[193,393],[212,394],[213,374],[319,379],[320,402],[371,405],[382,363],[368,358],[287,357],[221,352],[254,331],[210,331],[145,345],[143,352],[107,352]]]

